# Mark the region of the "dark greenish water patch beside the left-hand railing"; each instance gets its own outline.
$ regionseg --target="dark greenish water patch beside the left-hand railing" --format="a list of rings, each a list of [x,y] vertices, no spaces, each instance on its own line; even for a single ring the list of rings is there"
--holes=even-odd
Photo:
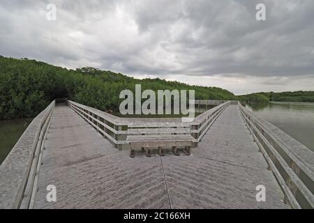
[[[0,121],[0,164],[20,139],[22,133],[31,123],[32,118],[21,118],[10,121]]]

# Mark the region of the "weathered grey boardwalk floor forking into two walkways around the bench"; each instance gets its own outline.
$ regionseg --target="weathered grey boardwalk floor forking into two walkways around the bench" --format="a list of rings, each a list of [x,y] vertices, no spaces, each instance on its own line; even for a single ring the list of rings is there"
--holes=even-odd
[[[34,208],[290,208],[239,114],[230,105],[190,156],[118,151],[70,107],[57,106]],[[57,201],[47,202],[47,185]],[[266,187],[266,202],[255,187]]]

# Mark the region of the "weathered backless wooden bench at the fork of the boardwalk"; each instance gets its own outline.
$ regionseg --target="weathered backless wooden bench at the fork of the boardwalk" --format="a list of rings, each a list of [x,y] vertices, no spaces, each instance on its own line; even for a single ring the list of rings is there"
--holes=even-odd
[[[171,147],[174,155],[179,155],[178,147],[184,147],[184,153],[190,155],[193,137],[190,134],[144,134],[128,135],[130,157],[135,157],[135,148],[145,150],[145,155],[151,156],[151,148],[158,148],[159,155],[163,156],[163,148]]]

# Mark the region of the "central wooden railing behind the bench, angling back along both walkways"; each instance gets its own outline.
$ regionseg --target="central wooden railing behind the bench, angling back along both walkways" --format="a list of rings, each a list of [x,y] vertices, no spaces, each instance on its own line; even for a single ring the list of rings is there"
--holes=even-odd
[[[165,132],[191,134],[194,137],[193,147],[195,147],[211,124],[230,105],[230,101],[220,102],[223,104],[200,114],[194,118],[194,121],[183,122],[181,118],[120,118],[71,100],[67,101],[68,106],[118,149],[128,148],[126,141],[128,134],[162,134]]]

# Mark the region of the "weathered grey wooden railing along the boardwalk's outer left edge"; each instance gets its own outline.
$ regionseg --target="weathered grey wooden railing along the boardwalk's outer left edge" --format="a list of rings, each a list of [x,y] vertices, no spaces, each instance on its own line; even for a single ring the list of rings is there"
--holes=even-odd
[[[0,166],[0,208],[31,208],[55,101],[31,121]]]

